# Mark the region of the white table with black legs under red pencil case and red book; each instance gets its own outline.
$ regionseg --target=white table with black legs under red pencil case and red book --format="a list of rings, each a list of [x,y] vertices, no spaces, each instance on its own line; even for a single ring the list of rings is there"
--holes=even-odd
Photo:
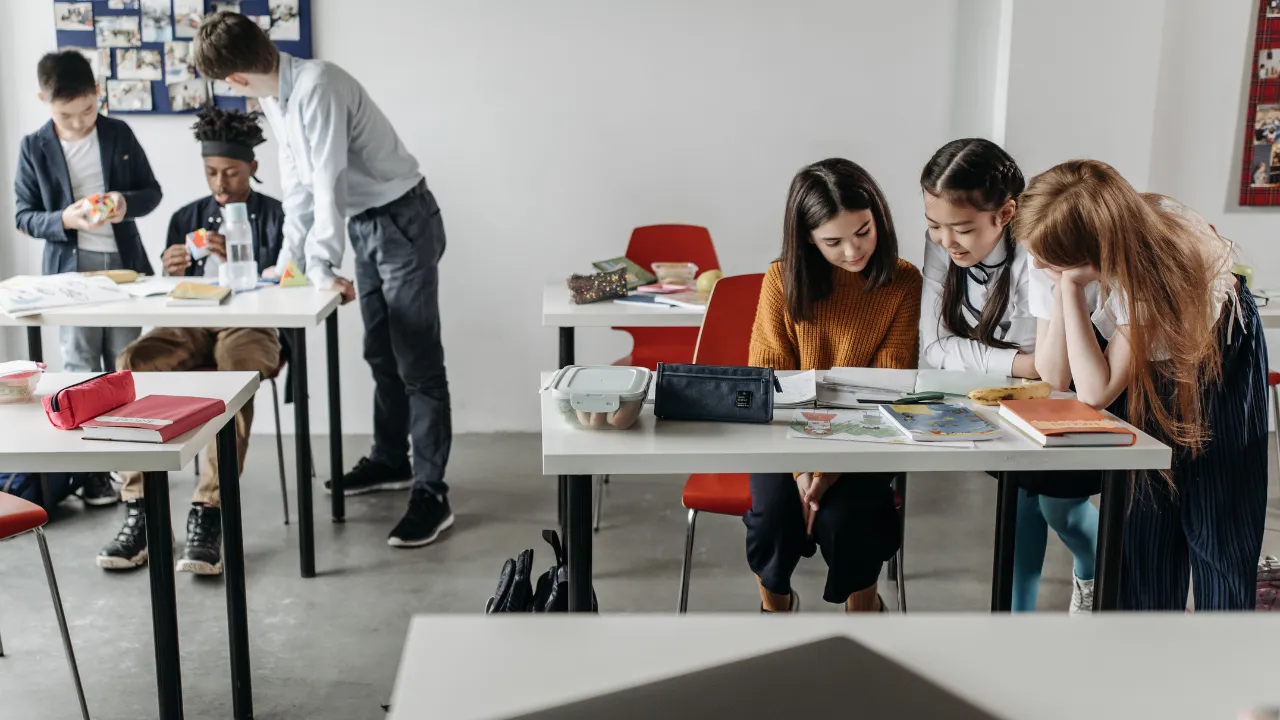
[[[92,373],[47,373],[41,378],[36,392],[42,397],[92,377]],[[0,432],[0,471],[142,471],[160,717],[182,717],[169,473],[186,468],[196,454],[216,437],[218,483],[221,488],[223,568],[230,630],[232,705],[236,717],[252,717],[236,413],[239,413],[257,392],[257,373],[134,373],[133,378],[137,397],[148,395],[215,397],[227,404],[227,413],[170,442],[150,445],[86,441],[79,430],[59,430],[45,416],[38,398],[33,402],[0,405],[0,428],[4,429]]]

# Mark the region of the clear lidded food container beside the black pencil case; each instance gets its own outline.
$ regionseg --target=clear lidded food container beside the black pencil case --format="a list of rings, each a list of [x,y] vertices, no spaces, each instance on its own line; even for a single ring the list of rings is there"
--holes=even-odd
[[[640,418],[652,380],[646,368],[570,365],[547,387],[570,425],[625,430]]]

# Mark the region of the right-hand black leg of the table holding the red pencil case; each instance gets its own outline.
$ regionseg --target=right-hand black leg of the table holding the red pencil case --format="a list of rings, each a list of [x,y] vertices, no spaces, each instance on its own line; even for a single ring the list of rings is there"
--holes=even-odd
[[[218,487],[223,498],[223,569],[232,657],[232,712],[237,720],[248,720],[253,717],[253,683],[248,666],[244,534],[241,529],[239,459],[236,452],[234,419],[218,430]]]

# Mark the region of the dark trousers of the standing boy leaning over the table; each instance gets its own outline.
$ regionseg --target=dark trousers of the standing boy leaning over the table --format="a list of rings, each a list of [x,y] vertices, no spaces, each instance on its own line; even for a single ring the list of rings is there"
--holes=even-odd
[[[413,491],[444,496],[453,425],[440,342],[444,222],[426,182],[348,222],[374,372],[371,459],[399,465],[413,443]]]

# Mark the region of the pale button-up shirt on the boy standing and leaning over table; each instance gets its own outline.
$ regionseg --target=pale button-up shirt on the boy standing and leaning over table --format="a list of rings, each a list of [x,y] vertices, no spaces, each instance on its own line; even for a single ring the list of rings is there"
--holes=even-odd
[[[280,53],[278,97],[262,99],[280,143],[284,246],[276,265],[301,261],[316,282],[333,277],[347,218],[399,199],[422,182],[417,160],[356,78],[324,60]]]

